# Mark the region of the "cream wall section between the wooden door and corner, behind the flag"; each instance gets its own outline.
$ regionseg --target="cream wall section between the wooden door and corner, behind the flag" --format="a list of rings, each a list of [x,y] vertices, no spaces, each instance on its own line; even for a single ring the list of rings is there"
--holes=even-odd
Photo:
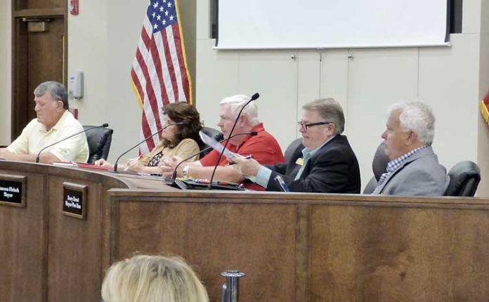
[[[179,1],[188,65],[195,74],[195,4]],[[140,139],[141,107],[130,72],[148,1],[87,1],[68,18],[68,74],[84,72],[84,98],[71,101],[82,124],[107,122],[114,129],[114,161]],[[187,42],[188,41],[188,42]],[[124,158],[136,157],[137,149]]]

